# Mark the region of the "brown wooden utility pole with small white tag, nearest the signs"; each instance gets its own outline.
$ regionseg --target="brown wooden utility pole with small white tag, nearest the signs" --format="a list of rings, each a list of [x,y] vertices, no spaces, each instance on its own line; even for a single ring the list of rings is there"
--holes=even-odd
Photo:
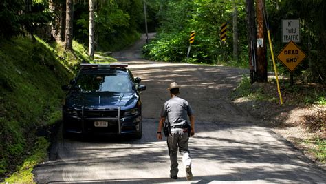
[[[256,0],[257,14],[257,82],[267,82],[266,42],[264,39],[263,9],[265,0]]]

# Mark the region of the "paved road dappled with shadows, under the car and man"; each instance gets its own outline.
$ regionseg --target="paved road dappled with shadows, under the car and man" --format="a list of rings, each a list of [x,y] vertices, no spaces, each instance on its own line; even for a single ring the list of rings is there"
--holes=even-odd
[[[193,183],[326,182],[324,170],[281,136],[255,125],[257,120],[228,99],[246,70],[145,61],[140,54],[143,43],[144,37],[128,50],[113,53],[128,62],[147,87],[142,92],[142,139],[63,139],[58,134],[50,161],[34,170],[37,182],[190,183],[181,162],[180,179],[169,178],[166,141],[155,137],[171,81],[183,85],[180,96],[195,110],[196,134],[190,141]]]

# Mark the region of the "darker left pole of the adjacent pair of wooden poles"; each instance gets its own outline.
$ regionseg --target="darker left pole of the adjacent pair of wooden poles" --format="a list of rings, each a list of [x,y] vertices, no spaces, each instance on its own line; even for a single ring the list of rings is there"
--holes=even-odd
[[[254,83],[256,72],[256,59],[257,59],[257,28],[256,17],[254,13],[254,0],[246,0],[247,12],[247,28],[248,28],[248,55],[249,55],[249,70],[250,70],[250,83]]]

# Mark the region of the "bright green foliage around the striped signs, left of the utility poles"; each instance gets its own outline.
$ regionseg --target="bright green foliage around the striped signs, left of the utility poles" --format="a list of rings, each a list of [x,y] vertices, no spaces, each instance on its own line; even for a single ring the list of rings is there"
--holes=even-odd
[[[232,63],[231,32],[232,7],[230,2],[218,1],[168,1],[162,3],[160,12],[161,27],[157,38],[145,45],[144,54],[149,59],[158,61],[186,61],[191,63],[221,64]],[[245,12],[243,3],[239,3],[239,31],[246,33]],[[219,40],[221,23],[228,23],[227,43]],[[186,60],[188,39],[195,30],[195,41],[191,45],[190,58]],[[243,35],[243,34],[240,34]],[[246,52],[246,35],[239,37],[239,44]],[[241,57],[245,61],[248,57]],[[248,63],[248,60],[245,61]],[[232,65],[243,65],[232,63]]]

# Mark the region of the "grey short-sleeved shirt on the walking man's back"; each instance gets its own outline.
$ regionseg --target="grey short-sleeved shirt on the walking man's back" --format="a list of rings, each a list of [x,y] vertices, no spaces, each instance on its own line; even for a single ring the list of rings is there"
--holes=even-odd
[[[184,123],[188,122],[187,116],[191,115],[193,115],[193,110],[191,110],[188,101],[177,96],[173,96],[169,101],[166,101],[161,111],[161,117],[167,117],[172,126],[184,125]]]

